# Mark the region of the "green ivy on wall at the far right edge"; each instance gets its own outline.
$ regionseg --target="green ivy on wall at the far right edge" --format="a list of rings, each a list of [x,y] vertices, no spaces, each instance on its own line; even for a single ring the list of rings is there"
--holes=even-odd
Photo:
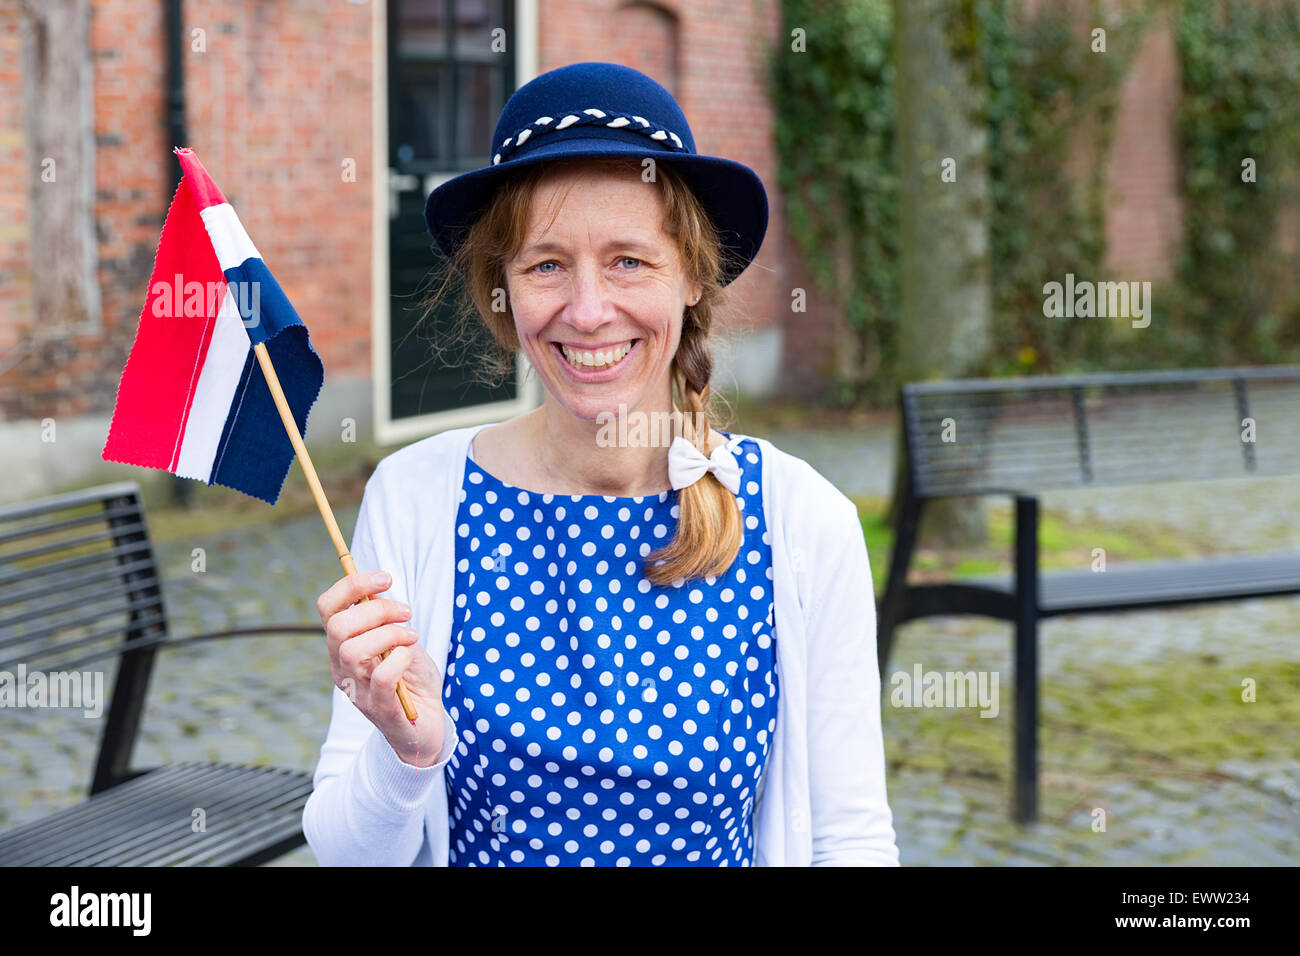
[[[1161,358],[1300,360],[1300,3],[1184,0],[1178,53],[1184,242]]]

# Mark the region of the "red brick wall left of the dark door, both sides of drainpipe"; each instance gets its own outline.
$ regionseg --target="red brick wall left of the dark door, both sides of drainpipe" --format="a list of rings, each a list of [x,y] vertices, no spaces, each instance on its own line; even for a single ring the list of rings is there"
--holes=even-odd
[[[95,220],[101,337],[25,350],[31,263],[18,9],[0,8],[0,416],[109,412],[153,267],[176,157],[166,142],[164,5],[96,0]],[[185,4],[188,142],[312,330],[328,378],[369,375],[370,9],[311,0]],[[202,30],[202,36],[191,31]],[[191,48],[198,44],[205,49]],[[356,181],[343,182],[344,159]],[[5,174],[8,173],[8,174]],[[21,362],[13,364],[18,358]],[[4,369],[8,371],[4,371]]]

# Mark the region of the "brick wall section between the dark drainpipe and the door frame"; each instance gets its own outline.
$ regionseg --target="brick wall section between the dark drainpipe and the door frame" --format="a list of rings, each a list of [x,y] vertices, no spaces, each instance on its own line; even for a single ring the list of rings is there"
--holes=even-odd
[[[369,5],[188,0],[186,17],[208,40],[186,55],[188,146],[311,329],[326,381],[369,376]]]

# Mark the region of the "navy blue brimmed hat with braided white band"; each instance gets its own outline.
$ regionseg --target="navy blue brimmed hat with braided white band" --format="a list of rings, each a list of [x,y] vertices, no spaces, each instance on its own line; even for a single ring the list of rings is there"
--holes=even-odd
[[[728,285],[758,255],[767,233],[767,191],[749,166],[696,152],[681,107],[638,70],[577,62],[543,73],[506,103],[491,163],[429,194],[424,221],[448,258],[512,169],[562,156],[662,157],[707,209],[724,246],[719,280]]]

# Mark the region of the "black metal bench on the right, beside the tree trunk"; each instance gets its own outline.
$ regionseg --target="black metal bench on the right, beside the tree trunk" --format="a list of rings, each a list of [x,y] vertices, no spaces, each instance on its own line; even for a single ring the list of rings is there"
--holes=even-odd
[[[1300,367],[913,382],[900,390],[905,462],[879,609],[881,679],[896,628],[936,614],[1015,624],[1014,818],[1037,817],[1037,626],[1300,593],[1300,550],[1039,571],[1044,490],[1300,473]],[[1248,440],[1253,421],[1254,441]],[[1014,571],[909,584],[927,501],[1009,494]]]

